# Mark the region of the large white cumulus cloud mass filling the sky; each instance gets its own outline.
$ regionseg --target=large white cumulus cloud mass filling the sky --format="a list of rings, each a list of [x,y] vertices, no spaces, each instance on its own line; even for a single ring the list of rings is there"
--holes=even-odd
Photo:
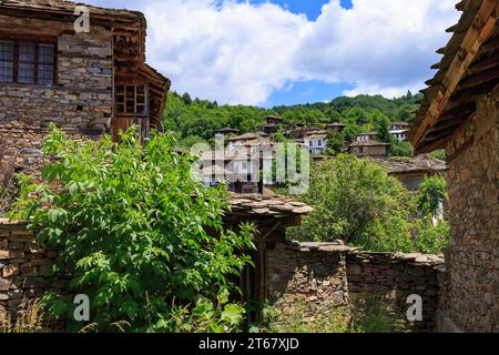
[[[95,0],[105,4],[104,0]],[[94,2],[95,2],[94,1]],[[121,1],[128,6],[128,1]],[[349,83],[345,94],[399,95],[428,79],[456,0],[330,0],[314,21],[272,3],[145,0],[147,61],[173,89],[263,104],[295,81]]]

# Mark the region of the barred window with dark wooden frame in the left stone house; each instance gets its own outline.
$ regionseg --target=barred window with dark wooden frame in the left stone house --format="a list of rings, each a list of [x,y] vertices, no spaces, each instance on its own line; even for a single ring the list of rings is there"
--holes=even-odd
[[[0,40],[0,82],[52,85],[55,44]]]

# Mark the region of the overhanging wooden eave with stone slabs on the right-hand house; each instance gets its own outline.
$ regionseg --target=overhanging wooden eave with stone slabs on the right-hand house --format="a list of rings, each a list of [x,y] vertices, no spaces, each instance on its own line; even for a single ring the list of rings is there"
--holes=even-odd
[[[476,112],[475,98],[499,82],[497,0],[465,0],[455,34],[444,50],[439,71],[422,90],[424,99],[409,133],[416,153],[445,148],[449,136]]]

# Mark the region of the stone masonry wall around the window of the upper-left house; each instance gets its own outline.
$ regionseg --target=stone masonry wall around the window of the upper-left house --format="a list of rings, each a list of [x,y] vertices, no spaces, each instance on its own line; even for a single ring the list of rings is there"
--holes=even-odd
[[[70,22],[0,16],[0,28],[16,24],[72,30]],[[0,83],[0,142],[4,150],[17,150],[16,165],[29,174],[40,171],[40,149],[50,123],[70,134],[94,138],[106,130],[112,115],[110,30],[92,27],[90,33],[61,34],[57,45],[58,75],[53,85]],[[10,172],[0,175],[3,173]]]

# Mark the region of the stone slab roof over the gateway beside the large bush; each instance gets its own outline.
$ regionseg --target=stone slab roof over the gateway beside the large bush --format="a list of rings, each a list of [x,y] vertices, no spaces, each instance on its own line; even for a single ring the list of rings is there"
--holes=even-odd
[[[306,203],[275,194],[231,193],[231,210],[235,215],[271,215],[286,217],[312,212]]]

